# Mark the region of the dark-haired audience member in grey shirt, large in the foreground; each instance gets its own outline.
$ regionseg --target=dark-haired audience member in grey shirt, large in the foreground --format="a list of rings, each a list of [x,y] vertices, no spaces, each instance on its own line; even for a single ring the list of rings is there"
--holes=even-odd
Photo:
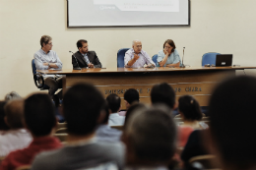
[[[123,166],[121,142],[96,142],[96,126],[104,99],[93,85],[74,85],[64,95],[68,139],[63,148],[37,155],[32,170],[73,170]]]

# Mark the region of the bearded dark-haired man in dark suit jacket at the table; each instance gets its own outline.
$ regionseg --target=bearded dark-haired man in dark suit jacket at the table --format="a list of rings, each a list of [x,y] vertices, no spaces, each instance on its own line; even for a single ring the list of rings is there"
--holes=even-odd
[[[77,42],[78,51],[72,55],[72,65],[74,68],[101,68],[96,52],[88,50],[88,41],[80,39]]]

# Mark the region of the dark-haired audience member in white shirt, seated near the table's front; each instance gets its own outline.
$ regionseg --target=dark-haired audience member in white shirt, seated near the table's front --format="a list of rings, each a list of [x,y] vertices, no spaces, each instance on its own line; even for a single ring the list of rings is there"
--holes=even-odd
[[[118,112],[121,109],[121,99],[117,94],[109,94],[106,97],[106,101],[109,107],[109,119],[108,125],[109,126],[123,126],[124,124],[124,116],[119,116]]]

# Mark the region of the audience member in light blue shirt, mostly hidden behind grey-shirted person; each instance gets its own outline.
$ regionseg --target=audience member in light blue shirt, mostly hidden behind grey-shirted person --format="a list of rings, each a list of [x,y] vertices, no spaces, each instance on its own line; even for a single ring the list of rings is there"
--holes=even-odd
[[[120,142],[122,132],[108,125],[109,108],[107,102],[105,102],[105,109],[104,112],[100,113],[100,117],[102,121],[96,129],[96,140],[98,142]]]

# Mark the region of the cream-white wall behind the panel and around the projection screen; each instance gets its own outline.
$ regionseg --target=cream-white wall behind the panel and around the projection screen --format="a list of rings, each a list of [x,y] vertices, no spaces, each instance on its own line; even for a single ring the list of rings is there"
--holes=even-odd
[[[81,38],[107,68],[116,67],[117,50],[131,47],[132,39],[141,39],[154,55],[167,38],[180,54],[186,47],[184,63],[190,66],[200,66],[206,52],[232,53],[233,64],[256,66],[255,6],[255,0],[191,0],[191,27],[67,28],[66,0],[0,0],[0,99],[12,90],[22,96],[38,91],[31,61],[43,34],[52,36],[63,69],[72,68],[68,51],[76,51]]]

